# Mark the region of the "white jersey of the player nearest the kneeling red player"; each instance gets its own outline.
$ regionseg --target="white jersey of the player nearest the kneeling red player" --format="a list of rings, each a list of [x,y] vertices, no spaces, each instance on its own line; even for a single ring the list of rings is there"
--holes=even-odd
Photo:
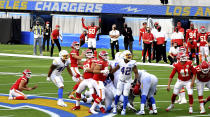
[[[62,62],[61,58],[55,58],[53,60],[53,65],[57,67],[53,70],[52,75],[56,76],[61,75],[65,67],[69,66],[70,63],[71,63],[70,58],[65,63]]]

